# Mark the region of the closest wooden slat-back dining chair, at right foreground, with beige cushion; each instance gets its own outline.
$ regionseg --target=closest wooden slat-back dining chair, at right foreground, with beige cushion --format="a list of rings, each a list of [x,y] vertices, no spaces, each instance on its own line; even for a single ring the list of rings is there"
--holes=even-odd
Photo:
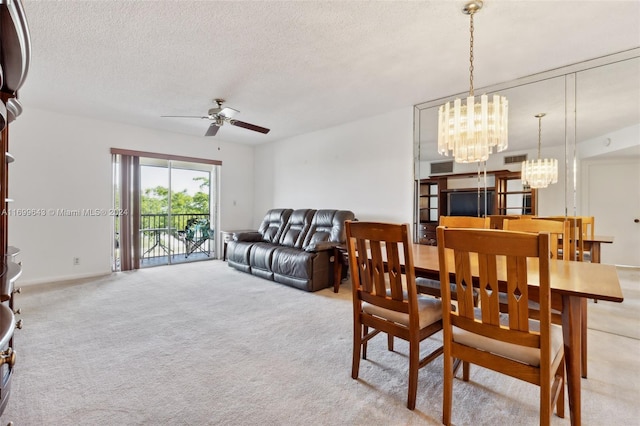
[[[475,364],[538,385],[540,424],[551,423],[554,407],[563,418],[564,344],[562,327],[551,323],[549,234],[439,226],[437,239],[441,281],[455,272],[458,288],[465,289],[458,291],[457,309],[443,312],[442,423],[451,424],[453,379],[461,363],[464,381]],[[527,261],[532,258],[539,265],[538,321],[529,318]],[[506,278],[506,285],[498,277]],[[473,306],[469,291],[474,283],[479,307]],[[498,289],[507,293],[507,313],[500,312]],[[451,306],[450,293],[443,285],[442,306]]]

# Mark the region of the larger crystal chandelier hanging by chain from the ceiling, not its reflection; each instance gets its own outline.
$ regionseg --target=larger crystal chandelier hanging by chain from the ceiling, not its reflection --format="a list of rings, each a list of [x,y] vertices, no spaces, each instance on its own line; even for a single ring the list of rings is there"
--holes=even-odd
[[[453,152],[456,163],[486,161],[494,148],[500,152],[508,146],[507,99],[498,95],[489,99],[484,94],[476,102],[473,93],[473,15],[481,8],[481,1],[471,1],[462,9],[470,18],[469,96],[447,102],[438,110],[438,152]]]

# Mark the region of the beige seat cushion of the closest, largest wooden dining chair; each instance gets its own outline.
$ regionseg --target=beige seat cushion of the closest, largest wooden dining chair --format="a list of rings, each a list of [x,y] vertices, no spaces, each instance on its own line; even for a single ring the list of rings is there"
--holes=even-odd
[[[476,309],[476,318],[481,318],[482,313],[479,308]],[[509,324],[509,315],[500,314],[500,324]],[[532,331],[540,331],[540,322],[529,320],[529,329]],[[483,351],[491,352],[515,361],[524,362],[525,364],[539,366],[540,365],[540,349],[530,348],[528,346],[515,345],[500,340],[491,339],[489,337],[480,336],[470,331],[453,327],[454,342],[478,348]],[[551,360],[555,358],[558,351],[563,347],[562,327],[551,325]]]

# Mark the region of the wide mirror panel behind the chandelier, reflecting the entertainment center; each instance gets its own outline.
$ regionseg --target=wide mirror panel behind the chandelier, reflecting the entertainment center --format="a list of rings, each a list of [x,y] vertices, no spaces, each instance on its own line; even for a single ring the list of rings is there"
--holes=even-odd
[[[416,131],[416,184],[418,206],[416,211],[417,225],[426,226],[428,223],[438,221],[439,215],[456,214],[450,209],[450,193],[454,191],[473,192],[478,187],[486,189],[494,195],[490,201],[491,206],[486,206],[489,214],[513,215],[513,214],[564,214],[562,206],[565,205],[564,181],[565,176],[559,176],[559,182],[555,188],[538,191],[539,195],[532,196],[531,190],[523,186],[520,179],[520,168],[524,158],[537,158],[538,150],[538,119],[537,114],[544,112],[545,126],[541,135],[542,155],[559,159],[564,163],[565,158],[565,77],[551,77],[534,82],[519,82],[514,87],[500,90],[500,94],[509,99],[509,148],[505,152],[493,153],[485,164],[480,165],[481,172],[485,167],[488,171],[486,183],[484,173],[480,179],[477,176],[479,165],[455,163],[452,157],[442,156],[437,151],[437,120],[438,106],[443,100],[434,101],[417,106],[418,116]],[[563,168],[564,170],[564,168]],[[498,176],[491,172],[502,171]],[[504,173],[511,172],[506,175]],[[461,176],[464,174],[464,176]],[[438,186],[424,187],[429,178],[439,176],[457,175],[455,177],[440,180],[440,191],[445,191],[438,198],[433,194],[424,197],[424,192],[438,192]],[[475,176],[474,176],[475,175]],[[422,185],[419,183],[422,181]],[[482,194],[477,198],[481,199]],[[542,206],[552,206],[554,210],[544,207],[536,208],[538,199],[542,200]],[[434,202],[439,201],[439,208],[434,207]],[[483,203],[483,200],[479,200]],[[426,207],[428,204],[428,208]],[[480,206],[474,210],[484,212]],[[425,220],[427,219],[428,220]],[[435,218],[435,219],[434,219]],[[418,231],[419,233],[419,231]]]

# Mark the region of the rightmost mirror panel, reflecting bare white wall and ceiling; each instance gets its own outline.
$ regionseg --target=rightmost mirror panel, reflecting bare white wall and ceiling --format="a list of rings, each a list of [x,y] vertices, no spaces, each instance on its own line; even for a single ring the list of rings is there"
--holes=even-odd
[[[614,238],[603,263],[640,266],[640,58],[578,72],[576,92],[577,215]]]

